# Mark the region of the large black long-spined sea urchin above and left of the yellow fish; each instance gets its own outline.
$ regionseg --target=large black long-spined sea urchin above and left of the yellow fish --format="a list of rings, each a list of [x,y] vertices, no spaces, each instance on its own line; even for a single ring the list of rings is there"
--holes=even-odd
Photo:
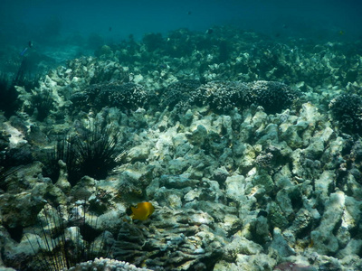
[[[46,168],[53,182],[59,177],[58,161],[66,164],[68,182],[75,185],[88,175],[104,179],[117,164],[123,148],[119,145],[119,128],[105,126],[99,121],[90,121],[89,128],[81,128],[79,135],[65,135],[57,142]]]

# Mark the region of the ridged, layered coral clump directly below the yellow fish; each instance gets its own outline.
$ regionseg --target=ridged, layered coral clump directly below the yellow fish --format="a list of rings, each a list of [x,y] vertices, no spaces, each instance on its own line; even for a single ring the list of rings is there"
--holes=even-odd
[[[222,256],[224,244],[210,228],[213,222],[204,211],[163,208],[152,224],[123,223],[113,255],[152,270],[207,270]]]

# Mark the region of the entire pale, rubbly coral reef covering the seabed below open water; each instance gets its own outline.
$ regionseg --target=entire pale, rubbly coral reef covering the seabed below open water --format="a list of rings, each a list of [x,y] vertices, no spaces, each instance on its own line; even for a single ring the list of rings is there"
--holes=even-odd
[[[52,252],[27,238],[43,244],[56,206],[73,244],[114,244],[71,270],[361,270],[362,69],[348,46],[178,30],[18,87],[20,107],[0,114],[0,266]],[[131,220],[145,201],[155,211]]]

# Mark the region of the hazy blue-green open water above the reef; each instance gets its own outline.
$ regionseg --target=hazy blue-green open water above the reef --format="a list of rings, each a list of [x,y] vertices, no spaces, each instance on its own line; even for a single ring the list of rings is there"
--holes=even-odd
[[[29,41],[62,61],[104,44],[179,28],[233,25],[272,39],[362,40],[360,0],[1,0],[0,58]]]

